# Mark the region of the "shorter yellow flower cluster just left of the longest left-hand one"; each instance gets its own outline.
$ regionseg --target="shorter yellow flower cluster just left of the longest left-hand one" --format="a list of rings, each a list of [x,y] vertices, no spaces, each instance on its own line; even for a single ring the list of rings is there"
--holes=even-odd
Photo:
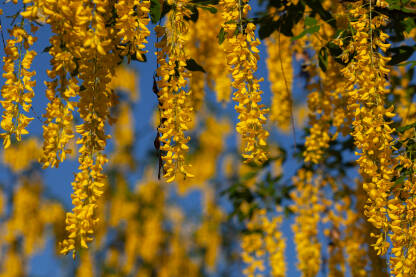
[[[42,1],[37,1],[42,2]],[[72,150],[68,143],[74,138],[74,98],[79,94],[79,49],[82,38],[77,30],[85,25],[85,14],[80,10],[82,1],[45,1],[42,11],[45,21],[52,26],[49,54],[51,69],[47,70],[51,81],[46,81],[46,97],[49,103],[43,115],[43,167],[58,167]]]

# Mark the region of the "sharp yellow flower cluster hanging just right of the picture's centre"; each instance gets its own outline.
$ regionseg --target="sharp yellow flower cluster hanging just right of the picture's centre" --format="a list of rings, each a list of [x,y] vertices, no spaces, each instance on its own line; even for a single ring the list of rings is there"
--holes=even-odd
[[[254,76],[260,45],[254,34],[256,25],[249,22],[243,26],[251,9],[248,0],[223,0],[220,6],[225,22],[222,24],[225,32],[223,47],[233,78],[232,86],[236,89],[233,100],[237,102],[235,109],[239,113],[236,130],[241,135],[242,155],[246,162],[262,164],[268,159],[264,148],[269,132],[263,127],[268,110],[260,104],[262,79]]]

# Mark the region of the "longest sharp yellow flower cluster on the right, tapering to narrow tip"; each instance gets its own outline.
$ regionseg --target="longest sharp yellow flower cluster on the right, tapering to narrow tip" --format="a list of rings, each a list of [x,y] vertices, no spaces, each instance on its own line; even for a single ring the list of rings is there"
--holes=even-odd
[[[389,58],[377,52],[386,51],[388,35],[381,30],[375,31],[385,22],[384,16],[371,17],[372,10],[359,2],[350,11],[355,21],[351,22],[355,30],[353,40],[347,51],[355,51],[356,56],[343,70],[348,79],[345,89],[348,91],[348,108],[354,114],[353,132],[355,145],[360,150],[357,162],[364,177],[364,190],[368,193],[365,214],[382,233],[377,234],[375,249],[379,254],[387,252],[389,243],[386,233],[389,231],[389,219],[386,208],[391,182],[394,176],[392,158],[393,129],[386,118],[394,116],[393,107],[386,108],[384,96],[386,89],[385,74],[389,73],[386,62]],[[378,69],[378,70],[376,70]]]

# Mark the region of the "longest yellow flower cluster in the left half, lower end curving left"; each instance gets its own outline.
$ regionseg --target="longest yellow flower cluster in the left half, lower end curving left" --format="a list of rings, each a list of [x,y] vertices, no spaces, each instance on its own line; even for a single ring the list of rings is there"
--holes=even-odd
[[[78,71],[84,88],[79,91],[77,106],[83,123],[76,126],[80,135],[77,144],[81,145],[78,158],[80,171],[72,183],[74,208],[72,213],[67,213],[68,238],[62,243],[62,253],[73,251],[74,257],[79,247],[88,247],[87,243],[92,241],[99,220],[96,217],[97,199],[103,194],[103,166],[107,162],[103,154],[108,137],[104,126],[111,106],[111,92],[106,85],[111,80],[112,72],[104,64],[117,64],[116,57],[106,52],[112,47],[111,37],[107,32],[100,32],[104,30],[106,12],[110,7],[106,2],[97,2],[94,8],[82,11],[85,15],[94,15],[90,24],[96,32],[88,29],[87,24],[81,26],[84,27],[84,43],[79,50],[81,57]]]

